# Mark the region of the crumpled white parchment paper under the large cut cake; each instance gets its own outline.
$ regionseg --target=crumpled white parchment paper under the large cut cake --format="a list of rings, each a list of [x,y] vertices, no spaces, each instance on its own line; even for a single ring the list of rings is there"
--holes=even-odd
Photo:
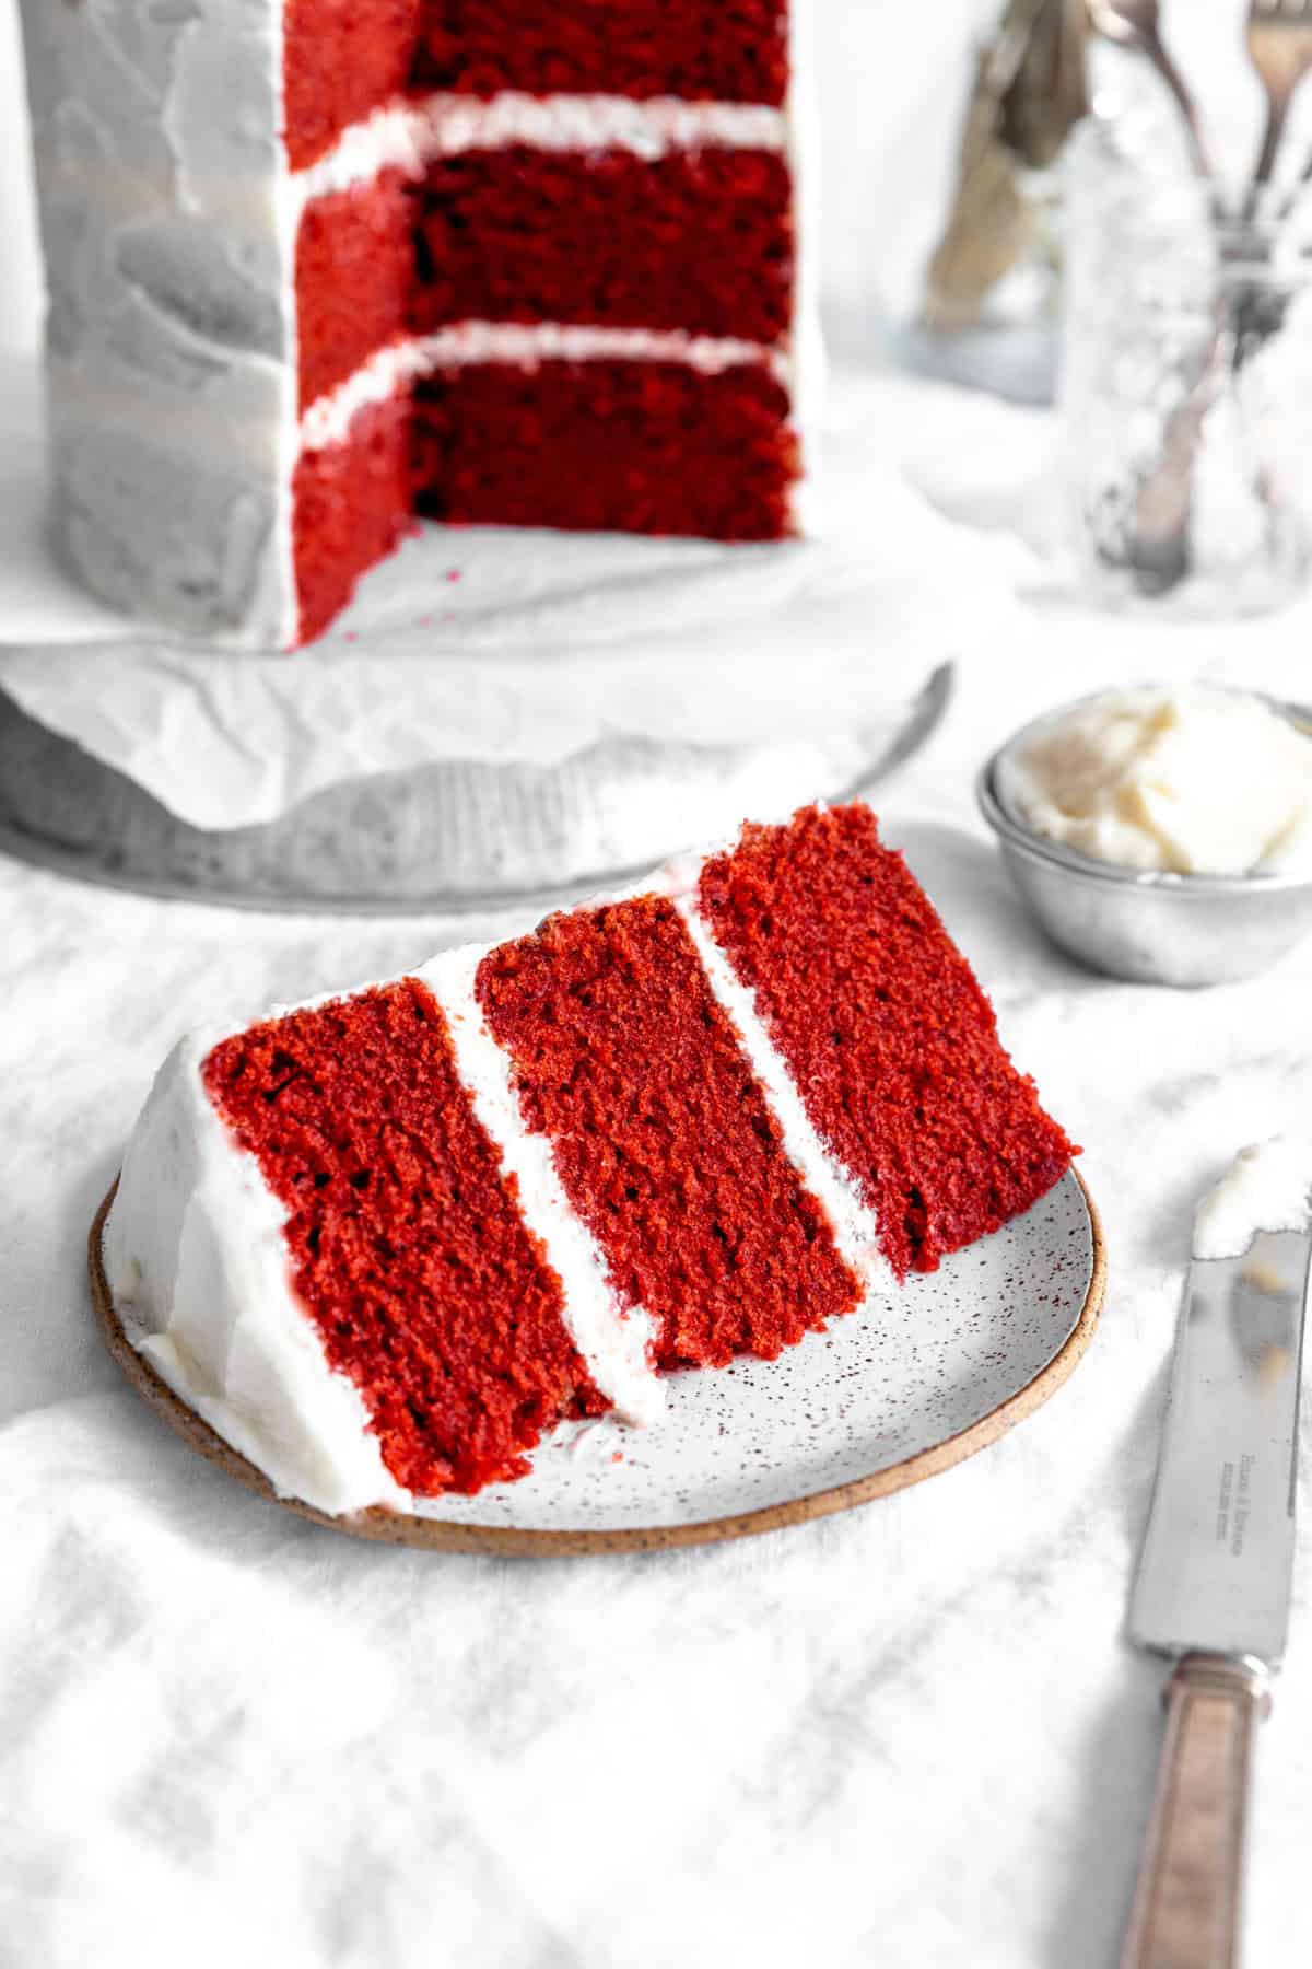
[[[33,575],[45,549],[28,443],[0,492],[28,545],[18,618],[37,636],[0,648],[0,689],[205,829],[268,823],[370,774],[553,766],[614,736],[824,744],[877,727],[932,667],[987,642],[1023,551],[944,520],[907,484],[881,402],[869,378],[830,390],[812,540],[429,526],[293,656],[144,636],[53,565]]]

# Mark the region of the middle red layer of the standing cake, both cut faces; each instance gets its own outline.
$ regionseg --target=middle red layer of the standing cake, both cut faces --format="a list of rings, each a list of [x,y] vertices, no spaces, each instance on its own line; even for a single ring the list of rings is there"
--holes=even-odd
[[[458,321],[683,329],[781,343],[791,179],[767,152],[470,152],[425,187],[384,171],[305,207],[295,254],[307,410],[403,333]]]

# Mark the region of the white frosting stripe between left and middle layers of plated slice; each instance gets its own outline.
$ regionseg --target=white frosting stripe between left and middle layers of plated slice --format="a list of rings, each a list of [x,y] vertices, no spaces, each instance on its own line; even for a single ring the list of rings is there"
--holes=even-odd
[[[551,1142],[523,1124],[509,1059],[492,1038],[474,996],[474,975],[486,955],[486,945],[445,951],[415,977],[447,1014],[474,1114],[502,1150],[506,1174],[519,1189],[523,1221],[565,1288],[565,1323],[592,1380],[626,1422],[659,1422],[665,1388],[649,1361],[655,1321],[643,1307],[629,1313],[618,1309],[606,1260],[565,1195]]]

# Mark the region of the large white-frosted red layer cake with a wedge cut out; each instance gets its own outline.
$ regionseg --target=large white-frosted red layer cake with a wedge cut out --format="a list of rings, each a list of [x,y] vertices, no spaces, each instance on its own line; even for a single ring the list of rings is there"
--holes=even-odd
[[[779,540],[805,0],[24,0],[55,536],[317,636],[429,514]]]

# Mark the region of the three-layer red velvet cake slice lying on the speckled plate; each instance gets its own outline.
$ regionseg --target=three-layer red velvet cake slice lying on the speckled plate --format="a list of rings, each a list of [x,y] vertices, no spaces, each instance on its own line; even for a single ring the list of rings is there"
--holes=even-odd
[[[185,1040],[104,1260],[132,1343],[283,1494],[413,1508],[557,1424],[775,1359],[997,1231],[1072,1146],[867,807]]]

